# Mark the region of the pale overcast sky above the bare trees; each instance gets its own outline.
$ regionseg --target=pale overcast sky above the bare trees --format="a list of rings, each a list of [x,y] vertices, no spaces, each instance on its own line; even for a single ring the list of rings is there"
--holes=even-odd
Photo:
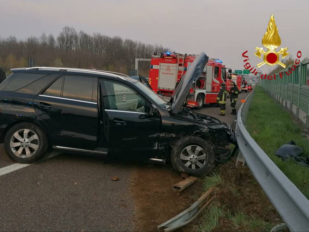
[[[0,36],[57,36],[64,26],[73,26],[76,31],[162,44],[179,53],[205,51],[234,71],[243,69],[241,54],[246,50],[252,66],[262,61],[253,53],[262,47],[271,14],[280,47],[288,47],[294,57],[298,50],[308,54],[307,0],[0,0]]]

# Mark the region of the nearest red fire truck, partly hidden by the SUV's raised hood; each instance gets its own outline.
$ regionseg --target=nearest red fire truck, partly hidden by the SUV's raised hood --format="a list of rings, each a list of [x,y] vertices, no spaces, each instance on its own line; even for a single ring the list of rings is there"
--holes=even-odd
[[[178,53],[155,53],[151,57],[149,83],[151,88],[169,101],[175,91],[176,83],[184,76],[195,55]],[[231,69],[229,69],[231,72]],[[221,60],[209,59],[201,77],[190,89],[187,107],[199,107],[203,104],[217,104],[220,84],[226,81],[226,68]]]

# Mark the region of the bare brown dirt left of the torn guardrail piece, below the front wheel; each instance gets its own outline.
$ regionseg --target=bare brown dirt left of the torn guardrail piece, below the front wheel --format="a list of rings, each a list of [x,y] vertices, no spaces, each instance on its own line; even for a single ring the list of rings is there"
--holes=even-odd
[[[135,230],[161,231],[156,227],[187,209],[203,193],[197,181],[181,192],[173,185],[183,180],[179,173],[162,165],[138,165],[133,171],[130,191],[135,201]]]

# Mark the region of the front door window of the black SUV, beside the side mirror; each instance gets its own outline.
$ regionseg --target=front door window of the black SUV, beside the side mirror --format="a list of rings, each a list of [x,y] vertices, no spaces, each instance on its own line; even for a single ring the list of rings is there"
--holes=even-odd
[[[146,101],[133,89],[112,81],[104,81],[106,94],[103,94],[104,108],[146,112]]]

